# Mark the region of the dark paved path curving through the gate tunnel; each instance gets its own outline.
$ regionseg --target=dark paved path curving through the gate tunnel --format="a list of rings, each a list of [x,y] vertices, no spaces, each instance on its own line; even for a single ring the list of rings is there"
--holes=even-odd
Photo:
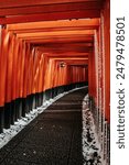
[[[79,89],[50,106],[0,150],[0,165],[83,165],[85,95]]]

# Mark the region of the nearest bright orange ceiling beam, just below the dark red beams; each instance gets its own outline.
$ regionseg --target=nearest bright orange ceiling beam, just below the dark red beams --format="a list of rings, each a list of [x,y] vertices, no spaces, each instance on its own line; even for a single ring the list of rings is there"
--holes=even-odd
[[[46,21],[46,22],[31,22],[31,23],[18,23],[7,25],[9,31],[15,33],[37,32],[37,31],[63,31],[65,30],[94,30],[99,26],[99,19],[87,20],[64,20],[64,21]]]

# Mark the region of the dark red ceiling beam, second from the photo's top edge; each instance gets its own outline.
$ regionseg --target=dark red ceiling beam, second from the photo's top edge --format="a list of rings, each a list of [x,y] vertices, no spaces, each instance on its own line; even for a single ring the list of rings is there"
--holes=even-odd
[[[6,1],[4,1],[6,3]],[[0,9],[0,16],[8,15],[24,15],[37,13],[52,13],[64,11],[80,11],[80,10],[100,10],[101,2],[87,1],[87,2],[68,2],[68,3],[54,3],[54,4],[36,4],[28,7],[12,7]]]

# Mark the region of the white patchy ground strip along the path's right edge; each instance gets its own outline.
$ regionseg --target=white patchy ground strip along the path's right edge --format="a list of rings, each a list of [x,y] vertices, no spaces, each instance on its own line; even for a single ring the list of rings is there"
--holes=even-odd
[[[84,165],[101,165],[100,144],[95,131],[94,118],[89,110],[88,95],[83,100],[83,156]]]

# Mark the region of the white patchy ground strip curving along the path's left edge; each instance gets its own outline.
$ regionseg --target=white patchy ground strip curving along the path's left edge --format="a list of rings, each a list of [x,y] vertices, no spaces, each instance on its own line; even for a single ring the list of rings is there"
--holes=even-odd
[[[85,88],[85,87],[82,87]],[[0,148],[4,146],[13,136],[15,136],[25,125],[28,125],[33,119],[35,119],[40,113],[42,113],[50,105],[65,96],[66,94],[69,94],[74,90],[82,89],[82,88],[75,88],[71,91],[60,94],[53,99],[50,99],[45,102],[43,102],[43,106],[33,109],[29,113],[26,113],[25,118],[18,119],[17,122],[14,122],[13,125],[10,127],[10,129],[3,129],[3,133],[0,134]]]

